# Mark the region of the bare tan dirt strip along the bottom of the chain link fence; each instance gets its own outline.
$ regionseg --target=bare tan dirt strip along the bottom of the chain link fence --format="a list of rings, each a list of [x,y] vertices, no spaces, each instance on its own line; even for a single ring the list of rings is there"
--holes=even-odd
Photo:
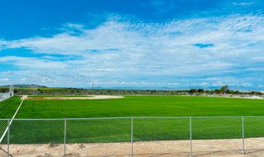
[[[6,156],[7,145],[0,145],[0,156]],[[242,139],[192,140],[192,156],[242,156]],[[66,156],[131,156],[131,142],[66,144]],[[14,157],[63,156],[63,144],[10,144]],[[190,156],[190,141],[134,142],[133,156]],[[245,156],[264,156],[264,138],[245,139]]]

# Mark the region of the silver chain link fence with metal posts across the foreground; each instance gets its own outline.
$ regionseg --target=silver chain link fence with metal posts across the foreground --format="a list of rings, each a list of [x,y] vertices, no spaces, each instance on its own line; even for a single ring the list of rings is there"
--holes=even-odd
[[[264,156],[261,116],[0,119],[0,133],[0,156]]]

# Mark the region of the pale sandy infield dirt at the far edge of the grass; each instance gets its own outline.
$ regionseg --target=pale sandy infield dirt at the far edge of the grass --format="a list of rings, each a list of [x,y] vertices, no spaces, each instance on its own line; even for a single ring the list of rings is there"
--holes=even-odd
[[[28,97],[27,95],[23,95],[21,99],[120,99],[124,98],[122,96],[114,96],[114,95],[88,95],[89,97]]]

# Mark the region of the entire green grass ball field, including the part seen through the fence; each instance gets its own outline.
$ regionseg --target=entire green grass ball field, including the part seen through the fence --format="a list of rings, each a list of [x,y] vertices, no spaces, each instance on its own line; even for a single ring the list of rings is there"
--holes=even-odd
[[[10,118],[19,97],[0,104],[1,118]],[[264,137],[264,101],[217,97],[129,96],[123,99],[25,100],[10,127],[11,143],[62,143],[64,119],[32,120],[26,118],[87,117],[185,117],[133,119],[135,141],[187,140],[192,116],[193,139],[242,137],[242,115],[245,137]],[[197,118],[213,116],[214,118]],[[215,117],[234,116],[234,117]],[[0,131],[6,128],[0,122]],[[67,119],[67,142],[129,142],[131,118]]]

